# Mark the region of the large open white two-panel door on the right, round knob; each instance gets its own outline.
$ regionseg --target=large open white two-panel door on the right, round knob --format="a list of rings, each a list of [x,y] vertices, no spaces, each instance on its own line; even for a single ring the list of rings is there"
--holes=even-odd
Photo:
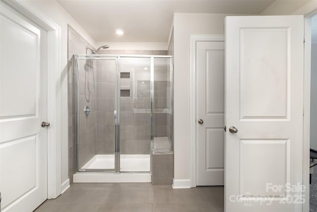
[[[226,17],[225,29],[226,212],[301,212],[304,18]]]

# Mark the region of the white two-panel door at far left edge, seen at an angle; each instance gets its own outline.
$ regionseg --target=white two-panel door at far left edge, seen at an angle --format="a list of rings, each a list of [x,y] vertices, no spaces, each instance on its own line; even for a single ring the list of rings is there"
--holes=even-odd
[[[0,2],[1,212],[47,199],[47,32]]]

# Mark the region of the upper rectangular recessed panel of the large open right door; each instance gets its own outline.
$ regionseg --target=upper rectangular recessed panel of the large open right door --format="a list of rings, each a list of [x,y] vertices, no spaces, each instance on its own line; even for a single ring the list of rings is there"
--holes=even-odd
[[[287,118],[290,29],[247,28],[240,36],[241,118]]]

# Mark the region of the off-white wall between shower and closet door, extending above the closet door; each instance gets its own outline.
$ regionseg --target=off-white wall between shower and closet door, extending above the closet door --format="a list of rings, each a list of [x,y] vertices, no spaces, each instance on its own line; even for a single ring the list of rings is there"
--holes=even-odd
[[[190,35],[223,35],[225,16],[174,13],[174,180],[190,178]]]

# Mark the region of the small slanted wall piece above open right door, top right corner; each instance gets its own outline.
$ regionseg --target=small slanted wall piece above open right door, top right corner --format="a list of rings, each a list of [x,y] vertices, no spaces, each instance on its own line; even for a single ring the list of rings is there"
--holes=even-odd
[[[310,0],[275,0],[260,15],[290,15]]]

